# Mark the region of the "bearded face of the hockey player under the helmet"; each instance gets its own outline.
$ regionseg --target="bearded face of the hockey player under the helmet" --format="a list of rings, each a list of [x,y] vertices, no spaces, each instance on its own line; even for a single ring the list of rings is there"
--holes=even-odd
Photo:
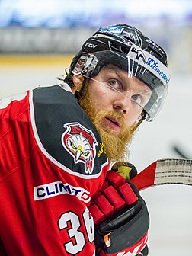
[[[150,95],[147,85],[117,66],[105,66],[88,80],[80,104],[96,126],[110,162],[125,158],[132,138],[130,127]]]

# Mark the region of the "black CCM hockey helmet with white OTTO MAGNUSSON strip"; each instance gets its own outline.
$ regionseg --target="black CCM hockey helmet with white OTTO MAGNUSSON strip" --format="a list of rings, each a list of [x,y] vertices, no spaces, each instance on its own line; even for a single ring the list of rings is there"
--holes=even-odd
[[[91,78],[107,64],[126,70],[151,88],[152,96],[143,110],[146,120],[153,120],[168,91],[167,56],[162,47],[130,25],[101,27],[72,59],[69,74]]]

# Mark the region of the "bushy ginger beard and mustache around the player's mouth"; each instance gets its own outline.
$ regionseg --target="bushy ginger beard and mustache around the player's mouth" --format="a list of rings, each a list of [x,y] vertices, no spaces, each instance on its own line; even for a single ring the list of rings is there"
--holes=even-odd
[[[85,86],[84,94],[82,99],[79,101],[81,107],[85,110],[88,118],[94,124],[98,131],[101,141],[104,144],[104,152],[110,163],[126,161],[129,155],[128,147],[130,145],[133,133],[130,127],[126,124],[123,113],[115,110],[100,110],[96,111],[97,104],[91,95],[89,94],[88,87]],[[118,120],[120,124],[120,133],[116,134],[109,127],[103,127],[101,125],[105,117],[110,119]]]

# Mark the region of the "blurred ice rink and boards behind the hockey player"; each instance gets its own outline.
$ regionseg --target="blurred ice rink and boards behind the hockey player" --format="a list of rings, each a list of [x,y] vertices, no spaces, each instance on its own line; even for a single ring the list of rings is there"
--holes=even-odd
[[[54,85],[82,43],[111,24],[133,25],[168,53],[167,101],[152,123],[142,123],[130,159],[142,171],[159,158],[192,158],[191,0],[0,0],[0,98]],[[151,256],[192,254],[192,187],[143,190],[151,215]]]

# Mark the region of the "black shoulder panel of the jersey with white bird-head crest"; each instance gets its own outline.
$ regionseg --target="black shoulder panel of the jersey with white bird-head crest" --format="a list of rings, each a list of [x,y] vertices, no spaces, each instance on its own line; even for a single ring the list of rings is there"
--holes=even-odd
[[[95,175],[107,162],[97,130],[74,95],[59,85],[33,91],[34,120],[46,152],[72,172]]]

